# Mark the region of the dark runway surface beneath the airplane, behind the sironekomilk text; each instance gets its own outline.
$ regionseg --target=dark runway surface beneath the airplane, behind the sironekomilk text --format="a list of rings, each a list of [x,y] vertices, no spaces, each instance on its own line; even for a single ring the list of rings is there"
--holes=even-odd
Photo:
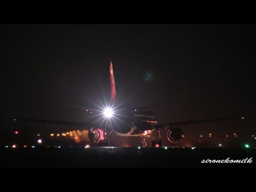
[[[247,158],[247,159],[246,159]],[[209,160],[243,160],[251,163],[202,163]],[[1,167],[256,167],[256,149],[49,147],[2,148]]]

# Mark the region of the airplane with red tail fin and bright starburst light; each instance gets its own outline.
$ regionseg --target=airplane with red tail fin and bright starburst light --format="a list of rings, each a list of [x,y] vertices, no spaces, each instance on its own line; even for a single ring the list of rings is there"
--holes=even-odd
[[[82,126],[84,129],[80,135],[85,141],[91,142],[93,145],[100,147],[108,147],[109,140],[107,140],[106,130],[115,132],[117,135],[123,137],[141,137],[141,147],[147,147],[145,138],[149,134],[154,134],[155,139],[152,140],[152,147],[162,147],[161,130],[167,129],[167,139],[172,143],[177,143],[182,140],[183,132],[179,126],[190,125],[198,123],[213,123],[220,121],[229,121],[232,119],[243,119],[243,116],[228,117],[228,118],[210,118],[199,119],[193,121],[171,122],[161,124],[157,122],[154,109],[142,108],[142,107],[130,107],[121,108],[122,103],[116,106],[116,89],[115,79],[113,71],[113,63],[109,61],[109,76],[110,76],[110,91],[111,99],[109,104],[104,107],[100,107],[100,110],[93,110],[93,117],[97,117],[92,123],[82,122],[66,122],[66,121],[54,121],[45,119],[30,119],[30,118],[7,118],[13,121],[27,121],[35,123],[45,124],[61,124],[72,126]],[[84,109],[86,111],[89,108]],[[92,113],[92,111],[91,111]],[[111,133],[110,132],[110,133]],[[109,133],[109,134],[110,134]],[[155,134],[156,133],[156,134]],[[63,133],[66,135],[66,133]],[[77,137],[76,132],[67,132],[70,137]],[[109,135],[108,134],[108,135]]]

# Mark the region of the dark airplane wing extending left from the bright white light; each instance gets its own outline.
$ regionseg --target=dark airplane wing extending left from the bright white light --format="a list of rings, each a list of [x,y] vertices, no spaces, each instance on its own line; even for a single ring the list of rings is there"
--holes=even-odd
[[[34,122],[34,123],[43,123],[43,124],[61,124],[61,125],[69,125],[69,126],[90,126],[90,123],[82,123],[82,122],[66,122],[66,121],[54,121],[54,120],[45,120],[45,119],[30,119],[30,118],[10,118],[7,119],[12,121],[26,121],[26,122]]]

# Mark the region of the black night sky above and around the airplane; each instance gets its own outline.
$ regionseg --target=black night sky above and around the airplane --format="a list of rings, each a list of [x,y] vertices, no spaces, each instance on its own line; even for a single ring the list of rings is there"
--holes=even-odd
[[[1,25],[2,117],[81,122],[83,112],[67,109],[110,98],[111,60],[118,101],[136,94],[126,106],[155,108],[158,123],[244,115],[182,129],[247,137],[255,34],[255,25]]]

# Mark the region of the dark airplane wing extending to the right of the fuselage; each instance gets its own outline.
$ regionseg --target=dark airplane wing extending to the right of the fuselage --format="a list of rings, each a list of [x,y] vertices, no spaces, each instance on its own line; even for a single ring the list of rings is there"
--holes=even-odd
[[[236,117],[227,117],[227,118],[212,118],[212,119],[199,119],[199,120],[192,120],[192,121],[182,121],[182,122],[172,122],[166,124],[157,124],[161,127],[172,127],[172,126],[179,126],[179,125],[190,125],[190,124],[199,124],[199,123],[213,123],[213,122],[221,122],[221,121],[230,121],[234,119],[244,119],[243,116],[236,116]]]

